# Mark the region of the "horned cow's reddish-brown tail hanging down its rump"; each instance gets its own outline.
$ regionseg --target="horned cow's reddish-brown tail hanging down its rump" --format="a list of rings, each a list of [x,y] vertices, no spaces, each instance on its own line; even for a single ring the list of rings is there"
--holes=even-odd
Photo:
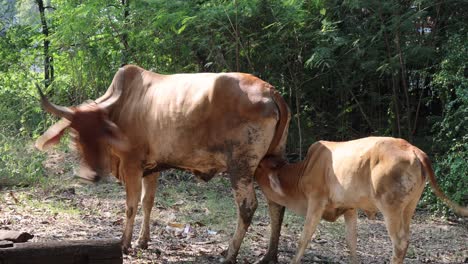
[[[291,114],[289,112],[288,105],[281,94],[273,87],[270,88],[270,93],[273,101],[278,107],[279,120],[278,123],[276,123],[275,134],[273,135],[273,139],[271,140],[270,147],[266,154],[283,156],[284,148],[286,147],[286,137],[288,136],[288,126]]]

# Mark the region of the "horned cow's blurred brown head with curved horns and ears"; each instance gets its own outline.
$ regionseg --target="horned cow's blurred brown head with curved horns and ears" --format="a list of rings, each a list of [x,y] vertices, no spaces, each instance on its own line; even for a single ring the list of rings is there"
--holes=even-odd
[[[116,86],[121,85],[121,82],[118,83]],[[43,108],[62,119],[37,139],[36,147],[44,150],[57,144],[65,130],[71,128],[72,139],[82,158],[79,176],[97,181],[109,169],[109,147],[118,151],[128,148],[126,137],[108,117],[109,107],[121,95],[121,87],[115,88],[112,96],[99,104],[88,102],[76,107],[64,107],[49,102],[38,87]]]

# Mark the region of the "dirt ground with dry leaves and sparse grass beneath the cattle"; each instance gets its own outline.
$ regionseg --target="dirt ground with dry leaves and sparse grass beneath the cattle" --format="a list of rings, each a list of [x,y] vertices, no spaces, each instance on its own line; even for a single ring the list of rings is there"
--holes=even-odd
[[[84,185],[71,172],[57,172],[59,181],[41,187],[0,191],[0,229],[27,231],[32,241],[118,239],[123,230],[125,193],[113,180]],[[151,217],[147,250],[133,249],[124,263],[219,263],[236,224],[227,179],[199,183],[191,176],[166,173],[160,179]],[[254,263],[268,245],[269,218],[263,195],[242,244],[238,263]],[[141,223],[136,220],[133,242]],[[279,261],[294,256],[303,218],[286,213]],[[468,263],[468,221],[442,219],[417,211],[411,225],[405,263]],[[388,263],[391,243],[381,216],[358,221],[358,255],[361,263]],[[344,223],[322,221],[306,251],[303,263],[348,263]]]

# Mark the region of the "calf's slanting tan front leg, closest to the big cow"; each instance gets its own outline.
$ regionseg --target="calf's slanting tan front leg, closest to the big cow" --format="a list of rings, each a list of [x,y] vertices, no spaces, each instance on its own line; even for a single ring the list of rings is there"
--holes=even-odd
[[[325,209],[325,202],[319,199],[309,199],[307,203],[307,215],[304,223],[304,229],[302,230],[301,238],[299,239],[299,245],[296,255],[291,260],[291,264],[301,263],[302,256],[309,245],[310,238],[315,232],[317,225],[322,219],[322,214]]]

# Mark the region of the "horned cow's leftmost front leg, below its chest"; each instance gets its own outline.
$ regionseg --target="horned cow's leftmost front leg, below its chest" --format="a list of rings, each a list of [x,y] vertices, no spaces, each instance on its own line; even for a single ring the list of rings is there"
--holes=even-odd
[[[125,192],[127,194],[127,208],[125,210],[125,229],[122,235],[122,251],[128,253],[132,245],[133,225],[138,211],[138,202],[141,197],[141,180],[143,172],[137,163],[122,162],[122,175],[125,179]]]

